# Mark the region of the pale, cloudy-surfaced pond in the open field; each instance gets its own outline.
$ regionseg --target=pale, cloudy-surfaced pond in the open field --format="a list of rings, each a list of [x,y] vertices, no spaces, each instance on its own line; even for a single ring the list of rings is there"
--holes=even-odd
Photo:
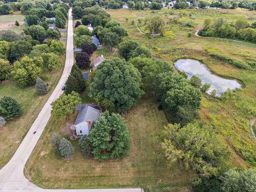
[[[193,75],[202,79],[202,84],[210,83],[211,87],[207,93],[211,93],[212,90],[216,90],[217,97],[220,97],[221,93],[227,91],[227,89],[236,90],[239,87],[242,87],[235,79],[227,79],[221,76],[218,76],[210,69],[204,65],[202,62],[194,59],[179,59],[174,63],[174,66],[179,71],[184,71],[190,79]]]

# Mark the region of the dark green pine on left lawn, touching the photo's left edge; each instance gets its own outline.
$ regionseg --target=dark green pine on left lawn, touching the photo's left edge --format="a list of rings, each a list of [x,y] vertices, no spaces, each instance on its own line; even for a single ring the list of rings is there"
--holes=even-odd
[[[21,109],[21,104],[12,97],[4,96],[2,99],[0,99],[0,114],[5,120],[18,117],[22,113],[23,111]]]

